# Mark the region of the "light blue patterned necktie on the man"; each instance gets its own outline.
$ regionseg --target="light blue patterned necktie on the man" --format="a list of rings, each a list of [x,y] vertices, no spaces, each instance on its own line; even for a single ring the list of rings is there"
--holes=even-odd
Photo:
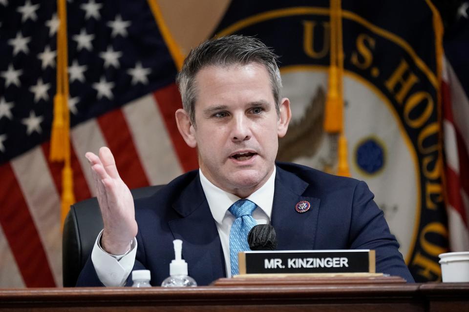
[[[238,253],[250,250],[248,234],[257,224],[252,216],[256,207],[252,201],[240,199],[228,209],[236,217],[230,230],[231,276],[239,274]]]

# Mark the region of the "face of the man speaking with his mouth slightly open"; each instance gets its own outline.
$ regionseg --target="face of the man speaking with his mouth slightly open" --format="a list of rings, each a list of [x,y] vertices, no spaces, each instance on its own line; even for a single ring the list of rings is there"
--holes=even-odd
[[[206,67],[197,73],[195,87],[190,133],[199,166],[214,185],[246,197],[274,170],[278,137],[290,120],[289,101],[282,99],[278,116],[269,75],[258,63]]]

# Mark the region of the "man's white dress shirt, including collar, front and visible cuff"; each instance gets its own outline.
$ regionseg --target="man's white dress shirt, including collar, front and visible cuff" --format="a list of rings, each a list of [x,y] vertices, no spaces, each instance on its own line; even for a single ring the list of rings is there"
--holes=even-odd
[[[267,182],[246,198],[257,205],[256,210],[253,212],[253,218],[257,224],[270,224],[272,203],[274,201],[275,174],[276,168],[274,166],[274,171]],[[199,176],[220,236],[223,255],[225,256],[226,273],[228,277],[231,277],[230,229],[235,221],[235,216],[228,209],[241,198],[213,185],[200,169]],[[96,274],[105,286],[123,286],[135,263],[137,240],[135,238],[132,240],[130,250],[126,254],[112,255],[101,248],[99,244],[101,235],[102,231],[98,235],[91,253],[91,261]],[[184,250],[184,244],[182,248]]]

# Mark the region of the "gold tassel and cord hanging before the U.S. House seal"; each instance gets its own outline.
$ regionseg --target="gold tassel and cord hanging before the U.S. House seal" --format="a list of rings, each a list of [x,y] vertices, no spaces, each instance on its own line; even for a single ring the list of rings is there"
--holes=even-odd
[[[337,174],[350,176],[347,161],[347,139],[344,135],[343,118],[343,46],[341,0],[330,0],[330,67],[328,92],[324,112],[324,131],[337,142]]]

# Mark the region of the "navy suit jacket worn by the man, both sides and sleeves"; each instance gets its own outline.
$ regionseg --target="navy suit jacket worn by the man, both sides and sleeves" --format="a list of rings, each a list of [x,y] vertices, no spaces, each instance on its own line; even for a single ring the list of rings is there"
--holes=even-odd
[[[374,249],[376,272],[412,282],[399,244],[373,197],[364,182],[277,163],[271,216],[277,250]],[[301,200],[311,204],[305,213],[295,210]],[[226,276],[220,238],[198,171],[177,177],[151,197],[136,200],[135,218],[138,247],[133,270],[150,270],[152,285],[161,285],[169,276],[176,238],[183,241],[189,275],[198,285]],[[90,256],[77,286],[102,285]]]

